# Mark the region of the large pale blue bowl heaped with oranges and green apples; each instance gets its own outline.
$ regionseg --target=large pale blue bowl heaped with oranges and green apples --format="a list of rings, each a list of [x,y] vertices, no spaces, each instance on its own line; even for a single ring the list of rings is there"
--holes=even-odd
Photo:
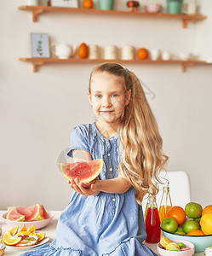
[[[195,202],[171,207],[161,222],[163,236],[170,240],[190,241],[195,252],[203,252],[212,245],[212,205],[202,207]]]

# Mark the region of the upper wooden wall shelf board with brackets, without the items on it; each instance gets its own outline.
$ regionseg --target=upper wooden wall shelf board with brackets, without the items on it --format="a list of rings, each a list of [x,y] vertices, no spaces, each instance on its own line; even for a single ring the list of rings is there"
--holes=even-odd
[[[187,22],[196,22],[198,20],[205,20],[207,16],[203,15],[171,15],[165,13],[145,13],[145,12],[130,12],[120,10],[102,10],[102,9],[83,9],[83,8],[69,8],[69,7],[54,7],[54,6],[20,6],[18,9],[32,12],[32,21],[37,21],[37,15],[44,12],[60,12],[70,14],[88,14],[88,15],[125,15],[125,16],[139,16],[151,17],[158,19],[175,19],[182,21],[182,27],[186,28]]]

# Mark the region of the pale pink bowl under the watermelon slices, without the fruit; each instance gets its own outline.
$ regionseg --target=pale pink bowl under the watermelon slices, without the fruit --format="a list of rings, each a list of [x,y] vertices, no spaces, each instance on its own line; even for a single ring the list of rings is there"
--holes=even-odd
[[[3,213],[3,221],[9,225],[9,228],[13,228],[17,225],[19,225],[20,227],[25,224],[26,225],[26,229],[28,229],[29,227],[32,226],[32,224],[35,225],[36,229],[39,230],[39,229],[42,229],[43,227],[45,227],[46,225],[49,224],[49,222],[51,221],[52,218],[54,218],[54,213],[53,212],[50,212],[50,211],[47,211],[48,214],[49,214],[49,218],[47,219],[43,219],[43,220],[39,220],[39,221],[13,221],[13,220],[9,220],[6,218],[8,212],[5,212]]]

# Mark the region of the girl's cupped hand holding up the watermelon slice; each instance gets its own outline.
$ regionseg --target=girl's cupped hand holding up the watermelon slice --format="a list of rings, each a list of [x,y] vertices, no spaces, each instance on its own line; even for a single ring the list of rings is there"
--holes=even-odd
[[[99,177],[95,178],[91,183],[81,183],[77,178],[68,181],[70,187],[74,189],[77,193],[81,195],[98,195],[100,193],[98,189],[98,184],[95,183],[96,180],[99,180]]]

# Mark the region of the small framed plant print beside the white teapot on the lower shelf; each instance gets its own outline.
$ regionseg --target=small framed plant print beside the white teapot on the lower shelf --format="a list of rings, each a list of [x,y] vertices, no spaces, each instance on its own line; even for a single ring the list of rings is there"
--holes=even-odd
[[[31,33],[32,58],[49,58],[49,35],[47,33]]]

